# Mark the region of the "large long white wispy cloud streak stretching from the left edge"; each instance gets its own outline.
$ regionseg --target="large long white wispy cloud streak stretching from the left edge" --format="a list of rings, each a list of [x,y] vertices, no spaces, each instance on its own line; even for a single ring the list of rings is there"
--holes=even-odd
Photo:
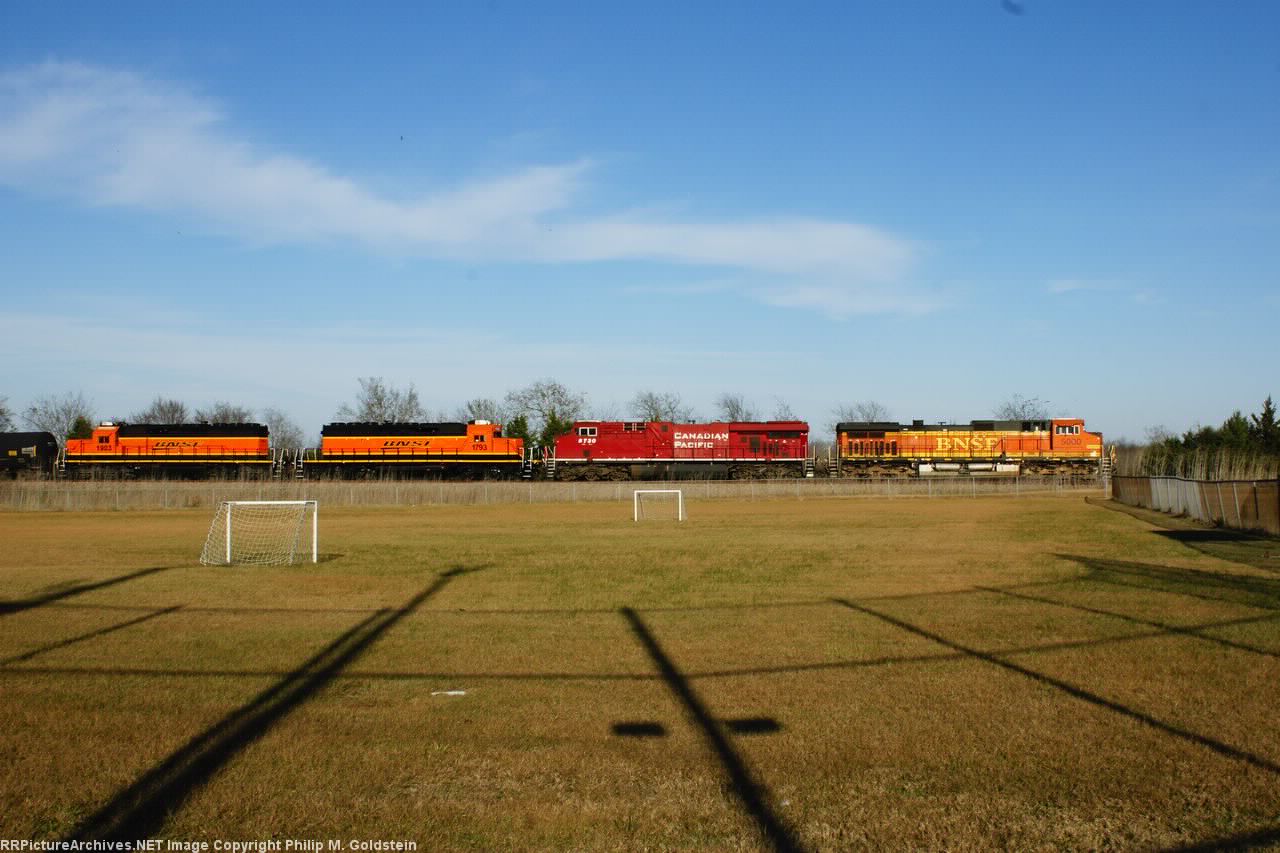
[[[767,214],[682,222],[575,210],[590,159],[433,188],[375,192],[323,164],[239,138],[209,97],[142,74],[45,63],[0,74],[0,183],[193,216],[253,241],[346,240],[474,261],[655,261],[719,268],[741,292],[847,315],[927,309],[908,293],[918,250],[865,224]]]

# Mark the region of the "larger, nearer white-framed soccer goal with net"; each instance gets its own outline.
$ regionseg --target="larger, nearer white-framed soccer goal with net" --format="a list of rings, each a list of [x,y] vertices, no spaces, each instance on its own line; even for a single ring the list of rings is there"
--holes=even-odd
[[[311,537],[307,542],[307,517]],[[206,566],[248,564],[279,566],[294,560],[316,562],[320,543],[320,506],[316,501],[223,501],[200,562]]]

